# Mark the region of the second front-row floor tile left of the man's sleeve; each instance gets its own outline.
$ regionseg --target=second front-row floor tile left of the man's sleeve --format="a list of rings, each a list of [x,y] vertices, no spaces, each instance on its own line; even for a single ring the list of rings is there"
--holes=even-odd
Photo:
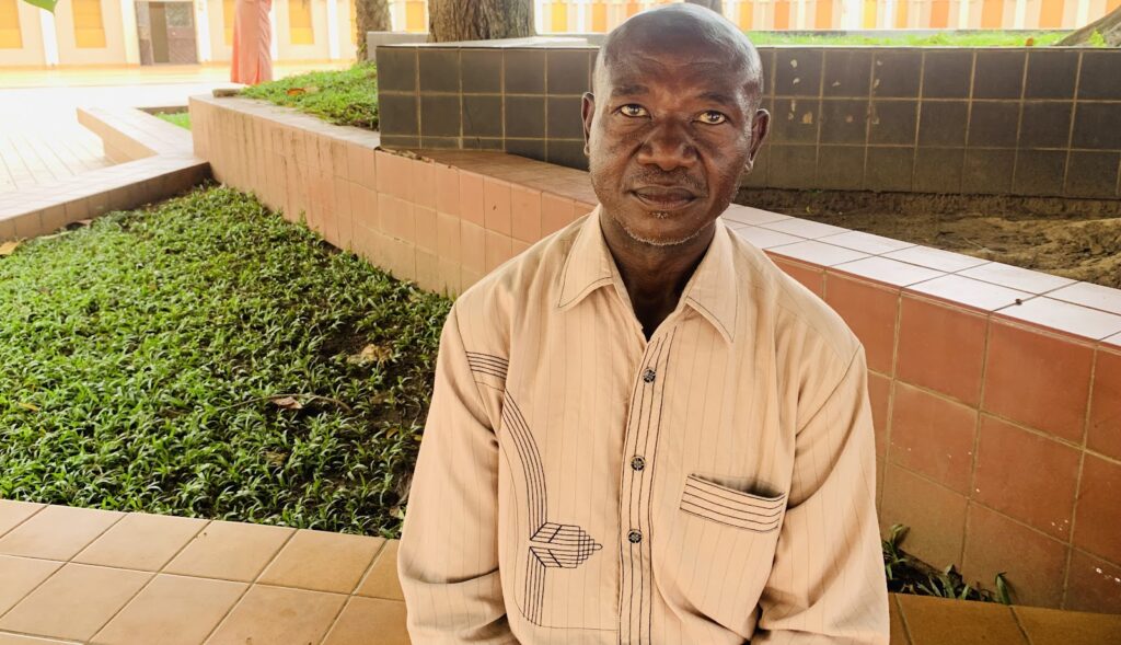
[[[206,645],[318,643],[346,597],[303,589],[254,586]]]

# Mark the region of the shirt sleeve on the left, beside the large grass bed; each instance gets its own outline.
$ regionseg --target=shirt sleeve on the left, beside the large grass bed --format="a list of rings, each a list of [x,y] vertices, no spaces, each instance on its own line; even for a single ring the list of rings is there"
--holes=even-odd
[[[498,563],[498,439],[453,307],[397,560],[413,643],[516,643]]]

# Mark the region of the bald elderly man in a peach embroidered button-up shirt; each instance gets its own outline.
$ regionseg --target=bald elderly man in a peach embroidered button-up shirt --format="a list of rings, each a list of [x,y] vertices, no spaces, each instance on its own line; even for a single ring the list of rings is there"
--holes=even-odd
[[[444,328],[398,559],[414,643],[887,643],[864,352],[720,219],[760,84],[704,9],[608,38],[599,208]]]

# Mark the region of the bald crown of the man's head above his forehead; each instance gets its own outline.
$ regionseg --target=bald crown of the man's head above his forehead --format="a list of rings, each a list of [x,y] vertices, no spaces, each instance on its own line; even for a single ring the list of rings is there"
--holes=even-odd
[[[742,77],[751,104],[758,105],[762,63],[751,40],[715,11],[684,3],[643,11],[612,30],[595,58],[594,91],[602,94],[601,83],[617,66],[626,68],[632,56],[671,52],[720,62]]]

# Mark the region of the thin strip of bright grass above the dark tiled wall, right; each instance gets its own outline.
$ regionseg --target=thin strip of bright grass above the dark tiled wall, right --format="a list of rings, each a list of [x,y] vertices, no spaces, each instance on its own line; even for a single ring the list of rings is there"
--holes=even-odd
[[[1045,47],[1058,43],[1068,31],[946,31],[927,36],[860,36],[782,34],[779,31],[748,31],[756,45],[884,45],[893,47],[1023,47],[1027,39],[1034,46]]]

